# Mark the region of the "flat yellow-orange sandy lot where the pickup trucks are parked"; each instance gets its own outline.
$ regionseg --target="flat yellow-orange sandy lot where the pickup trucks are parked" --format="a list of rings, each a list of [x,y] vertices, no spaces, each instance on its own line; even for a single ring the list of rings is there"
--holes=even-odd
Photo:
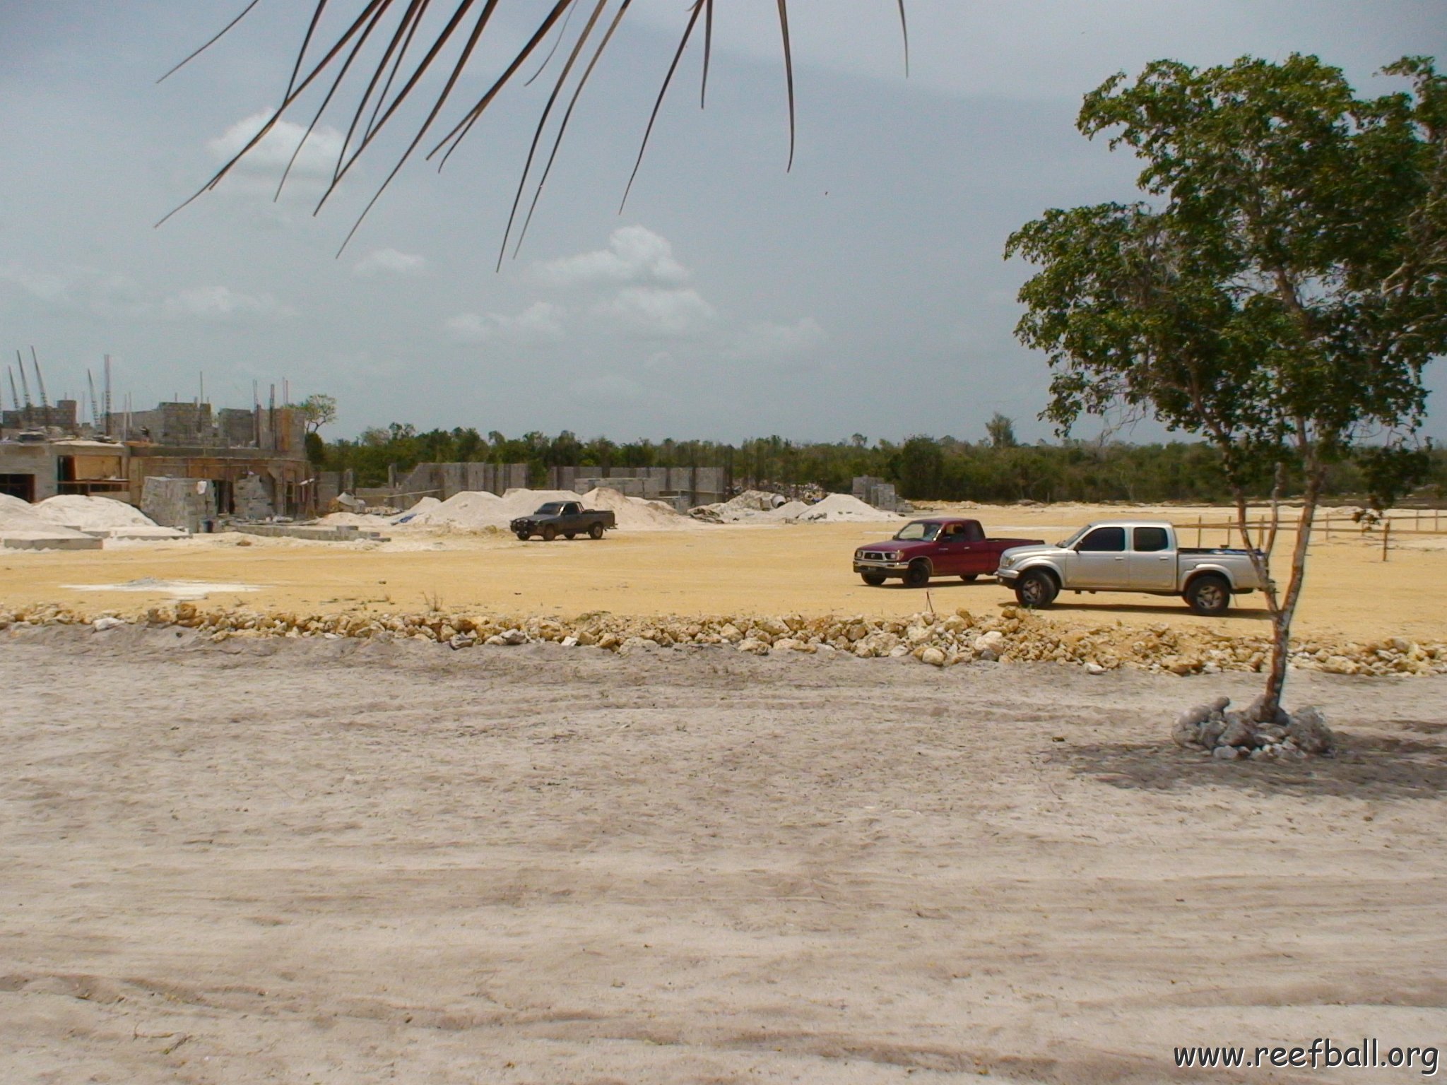
[[[1221,522],[1223,509],[1121,509],[1101,506],[980,508],[991,534],[1055,541],[1103,516],[1155,515],[1185,527]],[[713,527],[702,531],[616,532],[603,541],[518,542],[511,535],[404,534],[376,542],[298,542],[242,535],[185,542],[119,544],[104,551],[0,551],[0,602],[65,602],[90,612],[143,610],[165,592],[75,590],[142,577],[240,583],[250,593],[213,592],[210,605],[328,612],[418,612],[431,602],[449,610],[543,613],[572,618],[592,610],[619,615],[862,613],[909,615],[926,608],[922,592],[890,582],[867,587],[849,570],[855,547],[886,538],[888,525],[810,524]],[[1204,532],[1223,542],[1224,532]],[[245,542],[246,545],[239,545]],[[1283,535],[1278,553],[1289,553]],[[1382,561],[1379,537],[1338,527],[1312,544],[1308,586],[1298,612],[1304,637],[1365,641],[1406,637],[1447,639],[1447,535],[1395,537]],[[1283,560],[1283,558],[1282,558]],[[1285,576],[1279,566],[1278,576]],[[987,613],[1013,596],[993,582],[936,580],[936,609]],[[1169,622],[1249,634],[1266,632],[1260,597],[1242,597],[1226,618],[1197,618],[1176,599],[1140,595],[1065,595],[1051,619],[1092,628],[1113,622]]]

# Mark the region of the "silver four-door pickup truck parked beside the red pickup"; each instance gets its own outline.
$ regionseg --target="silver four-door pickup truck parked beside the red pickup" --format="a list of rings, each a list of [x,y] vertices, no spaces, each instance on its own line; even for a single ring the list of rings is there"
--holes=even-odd
[[[1049,606],[1061,592],[1178,595],[1197,613],[1226,613],[1233,595],[1262,586],[1250,553],[1178,547],[1175,528],[1159,519],[1087,524],[1053,547],[1011,547],[996,576],[1022,606]]]

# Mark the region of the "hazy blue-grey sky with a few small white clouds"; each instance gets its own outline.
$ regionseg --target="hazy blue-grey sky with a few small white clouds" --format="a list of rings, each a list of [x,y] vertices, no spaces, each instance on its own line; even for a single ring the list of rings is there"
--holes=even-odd
[[[693,48],[619,213],[686,19],[683,0],[637,0],[498,269],[548,74],[505,91],[441,172],[408,163],[350,240],[414,130],[405,110],[320,211],[341,113],[279,197],[301,142],[289,122],[156,226],[291,74],[311,4],[260,0],[158,82],[242,6],[0,0],[0,360],[33,346],[51,399],[80,398],[110,354],[117,404],[192,399],[204,382],[217,407],[249,407],[253,386],[265,402],[285,382],[292,399],[336,396],[330,437],[395,421],[978,441],[998,411],[1022,438],[1052,438],[1045,357],[1011,334],[1030,268],[1001,253],[1049,207],[1133,198],[1136,163],[1075,130],[1081,97],[1158,58],[1291,52],[1382,93],[1398,85],[1382,65],[1447,41],[1447,0],[909,0],[906,75],[894,0],[794,0],[787,169],[776,3],[719,0],[706,109]],[[440,132],[541,9],[502,0]],[[1441,362],[1428,386],[1440,399]]]

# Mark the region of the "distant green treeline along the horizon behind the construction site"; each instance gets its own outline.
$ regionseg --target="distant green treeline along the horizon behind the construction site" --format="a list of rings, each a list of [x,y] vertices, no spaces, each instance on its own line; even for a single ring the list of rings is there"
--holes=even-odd
[[[909,437],[901,443],[870,441],[854,434],[846,441],[803,443],[760,437],[741,444],[716,441],[628,441],[606,437],[580,440],[563,431],[557,437],[528,433],[486,435],[475,428],[418,433],[394,422],[386,430],[365,431],[356,440],[308,440],[311,459],[327,470],[353,470],[359,486],[386,483],[388,467],[411,470],[418,463],[527,463],[532,485],[543,485],[554,466],[587,467],[722,467],[734,488],[818,485],[848,492],[858,475],[893,482],[904,498],[916,501],[1184,501],[1224,502],[1230,496],[1220,457],[1204,443],[1085,443],[1019,444],[1009,420],[997,418],[991,440],[971,443],[954,437]],[[1447,453],[1430,451],[1420,496],[1447,493]],[[1288,480],[1288,495],[1292,492]],[[1270,479],[1262,477],[1256,496],[1266,496]],[[1356,463],[1331,472],[1327,492],[1336,498],[1366,492]]]

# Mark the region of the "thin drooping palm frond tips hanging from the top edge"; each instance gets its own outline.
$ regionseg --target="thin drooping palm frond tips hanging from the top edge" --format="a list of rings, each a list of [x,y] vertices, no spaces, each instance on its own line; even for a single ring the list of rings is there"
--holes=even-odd
[[[281,182],[278,185],[278,197],[291,176],[297,156],[301,153],[301,148],[305,145],[307,139],[317,132],[318,126],[333,110],[339,107],[346,109],[349,116],[346,123],[341,126],[344,135],[341,137],[337,161],[333,166],[326,191],[317,201],[315,211],[320,211],[337,191],[339,185],[353,166],[369,149],[373,148],[382,132],[388,129],[391,122],[394,122],[399,109],[414,97],[424,77],[437,69],[441,87],[436,91],[428,91],[428,94],[433,95],[430,109],[425,110],[425,116],[411,133],[411,139],[396,156],[392,168],[362,210],[362,214],[352,226],[352,230],[347,233],[347,237],[341,244],[341,249],[346,249],[368,213],[376,205],[382,192],[386,191],[402,166],[412,158],[418,146],[428,137],[428,133],[431,133],[433,127],[438,123],[438,119],[447,103],[451,100],[464,71],[467,71],[467,68],[475,62],[479,46],[483,41],[493,41],[498,36],[495,32],[491,38],[488,38],[486,32],[495,25],[493,14],[501,1],[502,0],[449,0],[449,12],[441,13],[437,10],[438,6],[436,0],[349,0],[350,10],[353,13],[349,17],[349,14],[336,13],[337,7],[347,6],[339,3],[339,0],[313,0],[314,7],[311,19],[307,25],[307,32],[302,36],[301,48],[297,51],[295,61],[291,65],[291,77],[287,81],[287,88],[282,93],[281,101],[272,116],[262,124],[260,130],[256,132],[239,152],[236,152],[236,155],[221,163],[216,174],[213,174],[197,192],[194,192],[185,203],[171,211],[161,221],[166,221],[166,218],[179,211],[182,207],[187,207],[204,192],[216,188],[217,184],[220,184],[227,174],[230,174],[247,155],[250,155],[284,119],[289,120],[289,113],[301,109],[301,98],[313,88],[317,88],[321,93],[321,101],[311,114],[307,126],[302,129],[302,139],[282,172]],[[242,19],[250,14],[252,9],[255,9],[258,3],[259,0],[249,0],[234,19],[232,19],[204,45],[190,54],[184,61],[175,65],[175,68],[162,75],[162,80],[168,78],[175,71],[185,67],[216,45],[216,42],[226,36],[226,33],[230,32]],[[530,179],[534,176],[534,171],[537,171],[537,179],[532,185],[532,195],[527,204],[527,211],[522,214],[521,227],[517,229],[514,256],[517,255],[517,247],[521,246],[522,239],[527,234],[528,224],[531,223],[538,200],[541,198],[543,187],[547,182],[554,162],[557,161],[563,135],[566,133],[569,122],[573,117],[574,107],[577,106],[583,88],[593,75],[608,45],[614,41],[615,32],[622,23],[622,19],[628,13],[631,4],[632,0],[553,0],[553,3],[547,4],[541,13],[532,16],[532,19],[535,19],[532,33],[528,35],[521,48],[515,49],[512,59],[502,67],[501,74],[492,81],[488,90],[462,111],[459,119],[451,124],[451,127],[447,129],[446,135],[440,139],[434,139],[431,149],[427,152],[425,158],[437,158],[438,169],[441,169],[462,140],[472,132],[473,126],[483,116],[483,113],[496,103],[502,90],[514,81],[518,71],[535,52],[538,52],[540,46],[550,36],[556,35],[551,42],[551,48],[548,48],[547,55],[537,67],[537,71],[522,80],[524,84],[531,84],[544,69],[550,67],[554,55],[559,54],[560,46],[564,42],[570,42],[570,46],[564,54],[566,59],[563,61],[557,78],[553,81],[547,101],[544,103],[534,127],[532,140],[528,146],[522,172],[518,179],[518,188],[514,194],[512,208],[508,216],[508,224],[504,231],[499,265],[506,253],[514,229],[518,227],[518,216],[522,210],[524,192],[528,188]],[[904,16],[904,0],[896,0],[896,4],[899,9],[900,30],[904,38],[904,71],[907,75],[909,25]],[[535,0],[532,0],[532,6],[537,6]],[[569,27],[572,16],[579,7],[586,12],[586,19],[582,20],[583,26],[580,29],[570,33]],[[673,78],[679,71],[679,65],[687,51],[689,42],[693,38],[695,27],[697,26],[700,17],[703,20],[703,69],[699,84],[699,106],[703,107],[706,103],[709,61],[713,54],[713,7],[715,0],[692,0],[692,3],[689,3],[687,20],[679,35],[677,46],[673,51],[673,56],[658,88],[658,95],[654,100],[651,113],[648,114],[648,123],[644,127],[642,139],[638,146],[638,156],[634,161],[632,172],[624,187],[624,203],[627,203],[628,192],[632,190],[634,181],[638,176],[644,155],[648,149],[650,137],[653,136],[660,110],[663,109],[663,101],[667,97],[669,88],[673,85]],[[789,106],[789,162],[786,169],[792,169],[794,161],[796,103],[793,39],[789,27],[789,0],[777,0],[777,13],[784,61],[784,90]],[[430,19],[430,14],[437,14],[437,19]],[[327,29],[327,23],[334,23],[334,26]],[[425,29],[424,23],[427,23]],[[598,35],[601,26],[605,29],[601,35]],[[589,51],[587,43],[593,41],[595,36],[598,36],[596,45],[593,45]],[[456,58],[444,61],[443,56],[451,49],[457,51]],[[585,56],[586,62],[582,62]],[[560,114],[557,114],[557,106],[564,100],[567,101],[567,106]],[[343,103],[346,101],[350,101],[350,107],[343,107]],[[540,149],[554,116],[557,116],[556,130],[551,135],[548,152],[546,158],[541,159],[540,165]],[[619,210],[622,210],[622,204],[619,205]]]

